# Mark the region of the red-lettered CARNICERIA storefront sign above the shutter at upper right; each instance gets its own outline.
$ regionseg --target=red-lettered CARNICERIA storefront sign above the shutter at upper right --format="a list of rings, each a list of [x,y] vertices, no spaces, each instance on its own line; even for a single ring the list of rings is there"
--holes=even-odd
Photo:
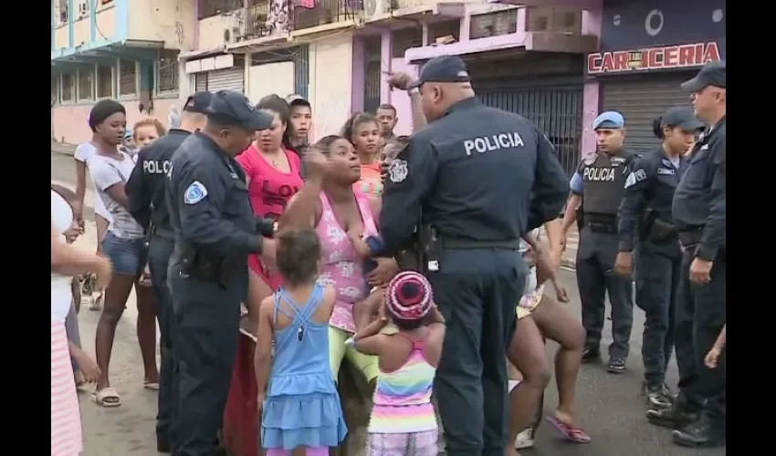
[[[596,52],[587,57],[587,74],[616,74],[627,71],[648,71],[651,69],[701,67],[719,60],[716,41],[650,47],[613,52]]]

